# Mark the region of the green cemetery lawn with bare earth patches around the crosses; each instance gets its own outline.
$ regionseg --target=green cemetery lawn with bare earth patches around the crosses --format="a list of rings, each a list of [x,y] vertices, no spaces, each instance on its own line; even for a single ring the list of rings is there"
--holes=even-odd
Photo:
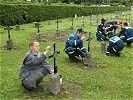
[[[99,16],[99,22],[102,15]],[[107,17],[107,15],[103,15]],[[115,14],[109,14],[108,19],[116,19]],[[95,16],[94,16],[95,18]],[[129,15],[121,16],[123,21]],[[133,14],[130,16],[133,18]],[[96,18],[95,18],[96,19]],[[96,41],[96,20],[94,26],[89,26],[89,17],[85,17],[85,31],[92,32],[91,52],[93,66],[84,68],[82,62],[74,63],[69,61],[68,56],[63,52],[65,40],[72,33],[71,22],[63,19],[59,23],[61,35],[56,36],[55,20],[51,25],[41,22],[40,33],[45,42],[40,42],[41,51],[46,45],[53,45],[56,42],[57,50],[61,53],[57,57],[58,72],[63,75],[63,85],[61,92],[57,96],[49,93],[49,75],[43,79],[38,89],[28,92],[21,86],[19,69],[25,53],[28,51],[28,43],[33,39],[37,29],[34,23],[21,25],[21,30],[16,31],[15,26],[11,30],[11,38],[14,42],[14,49],[8,51],[4,48],[7,40],[7,31],[0,28],[0,97],[1,100],[12,99],[82,99],[82,100],[131,100],[133,99],[133,47],[127,47],[121,52],[121,57],[106,56],[100,51],[100,41]],[[133,20],[133,19],[131,19]],[[82,20],[74,20],[74,31],[81,26]],[[118,29],[120,30],[120,29]],[[117,31],[118,32],[118,31]],[[87,34],[88,34],[87,33]],[[51,38],[52,37],[52,38]],[[54,38],[54,39],[53,39]],[[87,48],[87,42],[85,42]],[[49,55],[52,54],[52,50]],[[48,59],[53,65],[53,59]]]

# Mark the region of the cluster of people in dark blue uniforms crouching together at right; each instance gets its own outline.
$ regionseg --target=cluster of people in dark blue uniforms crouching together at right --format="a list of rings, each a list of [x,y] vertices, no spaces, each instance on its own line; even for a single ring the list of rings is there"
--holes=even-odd
[[[101,23],[97,27],[97,40],[109,40],[106,54],[120,56],[120,51],[124,48],[124,42],[128,46],[131,46],[133,42],[133,28],[129,27],[127,22],[106,21],[106,19],[102,18]],[[117,27],[121,28],[118,35],[115,34]]]

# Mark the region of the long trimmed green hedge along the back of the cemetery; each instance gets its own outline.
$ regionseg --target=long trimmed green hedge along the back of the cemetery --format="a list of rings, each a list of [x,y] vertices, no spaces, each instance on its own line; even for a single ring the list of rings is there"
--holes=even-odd
[[[90,6],[46,6],[0,4],[0,24],[2,26],[53,20],[67,17],[88,16],[100,13],[128,10],[126,7],[90,7]]]

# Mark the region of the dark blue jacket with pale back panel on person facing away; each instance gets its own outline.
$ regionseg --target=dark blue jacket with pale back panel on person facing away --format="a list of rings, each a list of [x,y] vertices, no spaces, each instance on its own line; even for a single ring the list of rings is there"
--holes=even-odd
[[[107,52],[109,52],[112,48],[115,52],[121,51],[124,48],[123,41],[115,34],[110,35]]]

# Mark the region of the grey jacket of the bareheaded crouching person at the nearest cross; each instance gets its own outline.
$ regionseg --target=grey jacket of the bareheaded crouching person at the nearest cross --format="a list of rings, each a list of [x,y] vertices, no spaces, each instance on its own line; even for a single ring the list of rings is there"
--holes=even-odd
[[[44,53],[28,51],[20,68],[21,81],[30,86],[36,87],[37,80],[42,79],[52,69],[51,65],[46,60]]]

